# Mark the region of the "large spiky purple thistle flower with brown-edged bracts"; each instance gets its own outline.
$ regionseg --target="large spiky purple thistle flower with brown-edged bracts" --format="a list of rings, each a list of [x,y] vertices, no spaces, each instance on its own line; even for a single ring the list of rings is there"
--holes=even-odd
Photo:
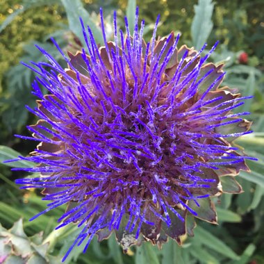
[[[219,88],[223,65],[206,63],[217,43],[205,56],[206,45],[177,49],[173,32],[156,39],[158,19],[146,43],[138,8],[133,32],[125,18],[126,36],[117,33],[114,13],[114,42],[106,40],[102,11],[101,22],[104,46],[82,21],[87,51],[68,58],[53,40],[67,69],[41,47],[49,63],[27,65],[38,73],[38,108],[27,108],[39,121],[28,126],[32,138],[17,136],[40,144],[19,158],[39,165],[19,170],[40,177],[16,182],[44,188],[51,201],[32,219],[67,204],[57,228],[82,228],[69,251],[113,231],[124,251],[142,240],[161,247],[168,236],[181,244],[185,233],[192,236],[194,217],[217,222],[210,197],[242,190],[233,176],[249,170],[250,157],[232,144],[251,133],[251,123],[240,118],[249,113],[231,111],[251,97]]]

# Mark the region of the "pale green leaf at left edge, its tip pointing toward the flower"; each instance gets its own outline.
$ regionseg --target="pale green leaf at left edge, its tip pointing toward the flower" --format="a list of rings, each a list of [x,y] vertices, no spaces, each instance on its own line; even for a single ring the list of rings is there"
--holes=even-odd
[[[36,164],[28,160],[18,160],[10,163],[4,163],[6,160],[13,160],[17,156],[22,156],[19,152],[10,147],[0,146],[0,163],[9,167],[34,167]]]

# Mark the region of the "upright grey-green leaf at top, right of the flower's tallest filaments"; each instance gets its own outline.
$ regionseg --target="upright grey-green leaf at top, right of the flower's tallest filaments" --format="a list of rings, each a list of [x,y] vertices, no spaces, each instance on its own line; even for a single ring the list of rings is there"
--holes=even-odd
[[[213,6],[211,0],[199,0],[195,5],[195,17],[192,20],[191,35],[195,49],[201,49],[208,39],[212,29]]]

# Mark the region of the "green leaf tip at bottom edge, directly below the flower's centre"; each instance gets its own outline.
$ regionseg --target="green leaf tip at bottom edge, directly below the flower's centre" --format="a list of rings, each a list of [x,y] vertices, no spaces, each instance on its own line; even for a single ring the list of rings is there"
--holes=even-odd
[[[135,263],[137,264],[159,264],[158,256],[156,254],[156,247],[151,243],[143,243],[136,248]]]

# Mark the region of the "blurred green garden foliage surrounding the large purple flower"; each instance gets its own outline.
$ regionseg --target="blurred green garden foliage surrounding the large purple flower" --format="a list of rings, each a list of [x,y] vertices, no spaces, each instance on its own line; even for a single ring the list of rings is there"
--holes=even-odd
[[[145,19],[145,38],[151,37],[151,28],[158,14],[161,23],[158,35],[171,31],[181,33],[180,44],[188,44],[196,49],[204,42],[210,48],[220,40],[211,60],[226,63],[224,85],[238,88],[242,95],[254,95],[240,108],[251,111],[254,121],[254,134],[237,140],[245,147],[249,156],[258,158],[250,161],[251,174],[241,172],[238,181],[245,192],[241,195],[223,195],[216,199],[219,225],[200,223],[195,229],[194,238],[184,238],[183,247],[170,241],[158,251],[145,244],[132,248],[123,255],[115,238],[101,242],[92,241],[85,254],[82,248],[74,251],[66,263],[264,263],[264,19],[263,0],[145,0],[138,1],[140,18]],[[195,8],[196,5],[196,8]],[[199,8],[197,8],[197,5]],[[25,105],[35,106],[31,94],[31,83],[35,75],[21,65],[23,61],[44,60],[35,49],[39,44],[63,64],[58,51],[49,40],[55,37],[60,47],[75,51],[83,41],[79,31],[82,16],[87,24],[100,27],[99,7],[104,8],[108,38],[113,38],[112,14],[117,10],[119,26],[124,26],[122,17],[133,17],[135,1],[127,0],[1,0],[0,1],[0,161],[24,155],[33,151],[35,142],[20,140],[14,134],[28,135],[27,124],[33,124],[35,117],[28,113]],[[197,33],[199,33],[197,35]],[[100,42],[100,35],[95,36]],[[15,150],[14,150],[15,149]],[[7,164],[6,164],[7,165]],[[42,215],[33,222],[28,219],[44,210],[36,190],[19,190],[14,179],[26,176],[22,172],[10,172],[10,167],[0,163],[0,263],[1,236],[14,222],[23,217],[25,237],[29,243],[35,233],[44,231],[38,245],[49,241],[49,247],[42,250],[41,263],[60,263],[59,259],[74,240],[76,226],[63,231],[53,231],[56,219],[63,212],[56,209],[53,213]],[[19,167],[21,164],[13,164]],[[26,164],[24,164],[26,165]],[[20,222],[19,222],[20,223]],[[19,230],[22,226],[19,225]],[[11,235],[10,235],[11,236]],[[15,236],[14,234],[12,236]],[[32,247],[32,245],[31,245]],[[33,249],[32,249],[33,250]],[[35,250],[35,249],[34,249]],[[33,251],[34,251],[33,250]],[[32,252],[33,252],[32,251]],[[39,254],[35,254],[36,256]],[[15,258],[14,258],[15,259]],[[39,262],[39,259],[38,259]],[[37,258],[35,262],[38,263]],[[10,262],[12,264],[12,262]],[[13,262],[15,263],[15,262]],[[17,262],[19,263],[19,262]],[[22,262],[23,263],[23,262]]]

